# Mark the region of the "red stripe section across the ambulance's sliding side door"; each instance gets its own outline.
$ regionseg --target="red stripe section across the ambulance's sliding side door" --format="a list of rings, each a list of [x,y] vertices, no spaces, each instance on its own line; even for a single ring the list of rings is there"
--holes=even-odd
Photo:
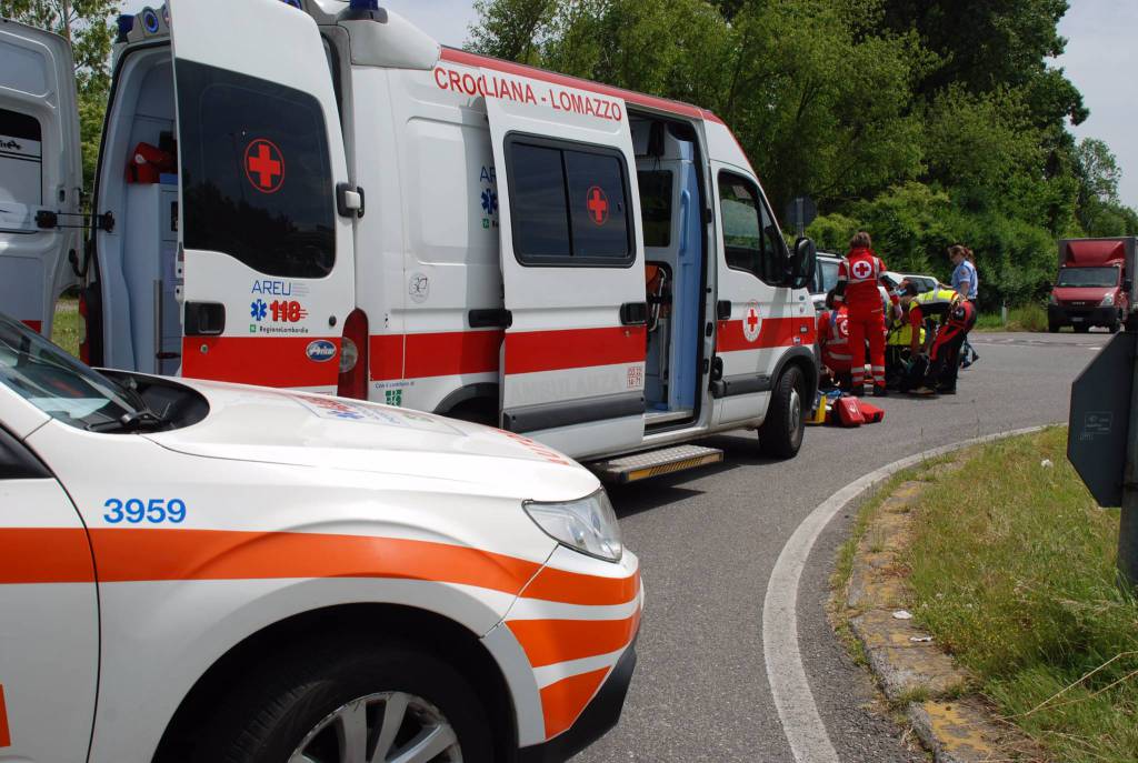
[[[523,331],[505,335],[505,372],[525,374],[643,363],[644,326]]]

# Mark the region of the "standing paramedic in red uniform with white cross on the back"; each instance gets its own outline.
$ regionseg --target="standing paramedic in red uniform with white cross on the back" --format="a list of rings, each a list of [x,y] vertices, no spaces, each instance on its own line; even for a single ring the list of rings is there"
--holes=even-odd
[[[846,305],[849,314],[849,342],[853,356],[850,376],[853,392],[864,393],[865,362],[861,357],[866,340],[869,341],[869,367],[873,372],[874,397],[885,397],[885,314],[881,304],[879,285],[889,289],[885,280],[885,263],[873,249],[869,234],[859,231],[850,240],[850,252],[838,266],[838,284],[834,287],[835,301]],[[896,305],[897,297],[890,292]]]

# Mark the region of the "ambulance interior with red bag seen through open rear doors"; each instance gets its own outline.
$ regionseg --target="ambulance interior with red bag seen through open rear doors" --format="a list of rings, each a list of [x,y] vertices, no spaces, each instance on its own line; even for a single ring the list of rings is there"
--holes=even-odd
[[[94,231],[102,312],[98,363],[178,371],[178,147],[168,44],[122,60],[107,115],[94,204],[114,218]]]

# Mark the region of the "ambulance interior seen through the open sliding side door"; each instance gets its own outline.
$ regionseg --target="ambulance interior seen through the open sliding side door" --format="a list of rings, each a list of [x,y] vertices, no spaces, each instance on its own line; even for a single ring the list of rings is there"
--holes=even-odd
[[[644,231],[648,354],[645,424],[679,425],[699,413],[704,241],[695,131],[632,119]]]

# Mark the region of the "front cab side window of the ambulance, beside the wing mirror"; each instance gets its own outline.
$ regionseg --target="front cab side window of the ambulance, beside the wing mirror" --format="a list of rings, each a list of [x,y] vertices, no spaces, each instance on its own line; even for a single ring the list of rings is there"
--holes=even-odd
[[[719,173],[719,210],[727,266],[772,285],[781,281],[780,235],[758,186],[734,173]]]

